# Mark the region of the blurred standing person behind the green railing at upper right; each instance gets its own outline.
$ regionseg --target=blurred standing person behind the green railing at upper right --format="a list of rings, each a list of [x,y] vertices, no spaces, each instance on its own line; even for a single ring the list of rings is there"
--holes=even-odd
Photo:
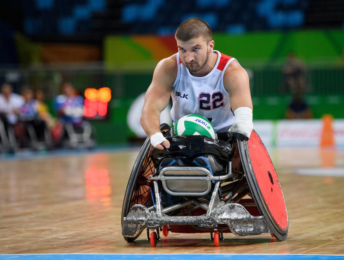
[[[299,95],[305,91],[305,66],[295,57],[294,52],[289,52],[287,62],[283,66],[284,85],[293,95]]]

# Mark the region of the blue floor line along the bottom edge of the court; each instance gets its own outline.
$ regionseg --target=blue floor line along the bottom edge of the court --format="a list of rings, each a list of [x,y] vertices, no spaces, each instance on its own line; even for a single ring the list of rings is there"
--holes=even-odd
[[[239,254],[23,254],[0,255],[0,260],[344,260],[344,255],[239,255]]]

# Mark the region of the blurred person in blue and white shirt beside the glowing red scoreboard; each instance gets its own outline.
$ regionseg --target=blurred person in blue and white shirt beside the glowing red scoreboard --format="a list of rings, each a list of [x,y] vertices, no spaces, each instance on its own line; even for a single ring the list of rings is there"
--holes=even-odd
[[[71,83],[62,85],[62,95],[55,98],[55,109],[57,116],[64,123],[81,125],[83,121],[84,99],[75,94]]]

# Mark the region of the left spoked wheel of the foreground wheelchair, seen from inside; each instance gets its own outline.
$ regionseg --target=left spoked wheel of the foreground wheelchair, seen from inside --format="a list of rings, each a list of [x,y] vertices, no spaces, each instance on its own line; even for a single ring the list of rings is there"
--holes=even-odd
[[[170,127],[167,124],[163,124],[160,126],[160,129],[163,133],[167,133]],[[148,179],[150,175],[154,174],[154,163],[150,158],[152,147],[149,138],[147,138],[131,170],[122,205],[121,225],[123,225],[123,217],[128,215],[133,205],[141,204],[147,208],[153,205],[151,194],[151,191],[154,190],[153,182]],[[140,234],[136,237],[124,237],[124,239],[128,242],[132,242],[139,235]]]

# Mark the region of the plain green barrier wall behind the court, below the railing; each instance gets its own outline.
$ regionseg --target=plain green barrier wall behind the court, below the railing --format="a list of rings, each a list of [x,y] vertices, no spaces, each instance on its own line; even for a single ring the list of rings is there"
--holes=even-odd
[[[127,113],[133,101],[133,98],[113,99],[110,104],[110,117],[103,121],[91,121],[99,144],[128,143],[129,139],[135,136],[127,126]],[[305,101],[309,104],[314,118],[321,118],[323,114],[344,118],[344,95],[306,95]],[[254,120],[278,120],[284,118],[291,96],[252,97],[252,102]],[[51,108],[52,102],[47,103]]]

